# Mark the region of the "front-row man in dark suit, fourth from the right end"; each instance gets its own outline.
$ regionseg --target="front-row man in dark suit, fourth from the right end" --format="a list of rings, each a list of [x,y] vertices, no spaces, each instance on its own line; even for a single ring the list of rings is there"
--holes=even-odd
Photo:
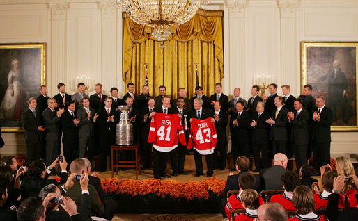
[[[249,129],[251,123],[251,116],[244,111],[244,102],[238,101],[236,103],[235,117],[233,117],[233,129],[238,140],[238,145],[233,147],[233,160],[239,156],[249,157]]]

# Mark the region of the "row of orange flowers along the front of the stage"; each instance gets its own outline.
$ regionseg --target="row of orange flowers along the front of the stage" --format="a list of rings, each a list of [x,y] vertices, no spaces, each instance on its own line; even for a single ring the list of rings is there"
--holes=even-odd
[[[102,188],[109,197],[115,199],[139,199],[143,201],[192,201],[221,199],[226,181],[211,177],[203,182],[189,181],[182,183],[177,180],[159,180],[109,178],[104,179]]]

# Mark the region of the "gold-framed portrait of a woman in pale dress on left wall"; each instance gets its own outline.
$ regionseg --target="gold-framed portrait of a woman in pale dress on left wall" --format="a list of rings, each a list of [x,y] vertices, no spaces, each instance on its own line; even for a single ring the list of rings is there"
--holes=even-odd
[[[46,83],[46,43],[0,44],[0,125],[3,132],[21,132],[22,112],[30,97]]]

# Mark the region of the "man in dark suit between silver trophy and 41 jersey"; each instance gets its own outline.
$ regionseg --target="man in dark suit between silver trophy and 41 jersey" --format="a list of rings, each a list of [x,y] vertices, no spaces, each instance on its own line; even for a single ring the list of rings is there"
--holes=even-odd
[[[142,142],[142,170],[146,170],[151,167],[150,154],[152,153],[152,144],[148,143],[150,122],[152,121],[152,112],[154,111],[155,98],[148,98],[148,107],[141,110],[141,142]]]

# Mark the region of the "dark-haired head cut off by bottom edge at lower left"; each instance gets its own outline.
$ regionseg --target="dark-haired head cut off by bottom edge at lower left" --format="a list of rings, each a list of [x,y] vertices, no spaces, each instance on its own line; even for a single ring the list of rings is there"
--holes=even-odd
[[[25,199],[17,210],[19,221],[45,221],[46,208],[42,205],[41,197],[29,197]]]

